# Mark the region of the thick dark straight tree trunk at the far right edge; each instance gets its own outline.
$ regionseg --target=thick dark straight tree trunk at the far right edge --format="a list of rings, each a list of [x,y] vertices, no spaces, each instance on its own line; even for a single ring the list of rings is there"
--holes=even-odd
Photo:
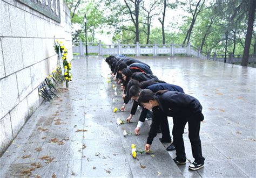
[[[255,0],[250,0],[249,19],[247,23],[248,27],[247,27],[246,37],[245,37],[244,55],[242,56],[242,66],[248,66],[250,45],[252,40],[253,22],[255,18],[255,4],[256,4]]]

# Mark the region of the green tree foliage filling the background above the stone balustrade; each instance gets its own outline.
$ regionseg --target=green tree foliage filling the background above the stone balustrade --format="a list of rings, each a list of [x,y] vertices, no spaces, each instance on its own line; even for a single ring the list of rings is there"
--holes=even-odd
[[[150,16],[153,15],[152,17],[149,16],[147,10],[150,10],[150,4],[156,1],[139,1],[138,18],[134,16],[136,11],[135,7],[132,6],[136,1],[126,1],[127,4],[129,3],[130,10],[127,4],[121,0],[80,0],[79,8],[76,9],[78,1],[66,0],[73,17],[73,29],[76,29],[73,30],[73,41],[84,40],[83,18],[84,13],[86,13],[89,42],[100,40],[95,38],[95,34],[102,33],[112,35],[114,43],[120,41],[122,44],[134,44],[137,35],[140,44],[163,44],[163,26],[158,19],[163,20],[164,0],[154,4],[154,12],[150,13]],[[185,42],[190,41],[193,46],[203,52],[216,52],[218,54],[225,52],[226,54],[242,54],[244,52],[249,2],[251,0],[178,0],[166,2],[165,44],[183,44],[186,39]],[[186,12],[182,18],[166,19],[167,15],[175,13],[174,11],[177,9]],[[136,25],[138,25],[138,30],[136,30]],[[255,31],[253,31],[250,54],[255,51]]]

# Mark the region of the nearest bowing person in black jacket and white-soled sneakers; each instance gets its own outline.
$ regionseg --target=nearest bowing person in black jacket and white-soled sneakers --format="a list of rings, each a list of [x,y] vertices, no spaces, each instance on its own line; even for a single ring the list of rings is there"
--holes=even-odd
[[[198,99],[178,91],[161,90],[156,94],[144,89],[140,92],[138,102],[146,109],[152,109],[153,113],[159,109],[167,116],[173,117],[173,141],[176,147],[176,158],[173,159],[178,165],[186,163],[186,154],[183,141],[183,133],[188,123],[188,138],[190,139],[194,162],[189,166],[191,170],[204,167],[205,158],[202,155],[201,140],[199,137],[200,122],[204,120],[203,107]],[[152,125],[153,126],[153,125]],[[152,128],[156,132],[156,128]],[[145,149],[150,150],[152,140],[147,140]]]

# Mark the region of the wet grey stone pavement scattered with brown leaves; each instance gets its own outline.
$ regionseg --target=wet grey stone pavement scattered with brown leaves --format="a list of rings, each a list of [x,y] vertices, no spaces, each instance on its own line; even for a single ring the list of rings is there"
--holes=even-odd
[[[0,177],[253,177],[255,176],[255,69],[196,58],[139,58],[160,80],[183,87],[199,99],[205,120],[200,137],[205,167],[188,170],[193,162],[187,126],[184,142],[187,163],[176,166],[175,151],[154,139],[153,153],[132,158],[131,144],[144,148],[149,124],[140,136],[132,123],[117,125],[113,112],[122,106],[119,86],[107,83],[110,69],[103,58],[91,56],[72,61],[73,81],[59,98],[43,103],[24,125],[0,158]],[[169,118],[170,130],[172,118]]]

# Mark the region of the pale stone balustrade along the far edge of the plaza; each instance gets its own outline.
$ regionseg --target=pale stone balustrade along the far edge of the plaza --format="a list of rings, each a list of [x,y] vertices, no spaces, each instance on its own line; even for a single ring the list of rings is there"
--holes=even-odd
[[[176,44],[168,44],[168,45],[141,45],[139,42],[136,45],[128,45],[128,44],[118,44],[116,45],[105,45],[102,44],[99,40],[98,43],[89,42],[87,44],[87,52],[93,53],[97,55],[153,55],[158,56],[161,54],[166,54],[170,56],[174,56],[177,54],[183,54],[187,56],[194,56],[200,59],[207,59],[213,61],[225,61],[225,55],[213,53],[202,52],[197,47],[192,46],[189,42],[187,45],[176,45]],[[80,42],[73,43],[73,53],[78,53],[80,56],[85,54],[85,43],[80,40]],[[226,55],[227,63],[241,63],[242,55],[241,54],[228,54]],[[256,54],[250,54],[249,62],[256,62]]]

